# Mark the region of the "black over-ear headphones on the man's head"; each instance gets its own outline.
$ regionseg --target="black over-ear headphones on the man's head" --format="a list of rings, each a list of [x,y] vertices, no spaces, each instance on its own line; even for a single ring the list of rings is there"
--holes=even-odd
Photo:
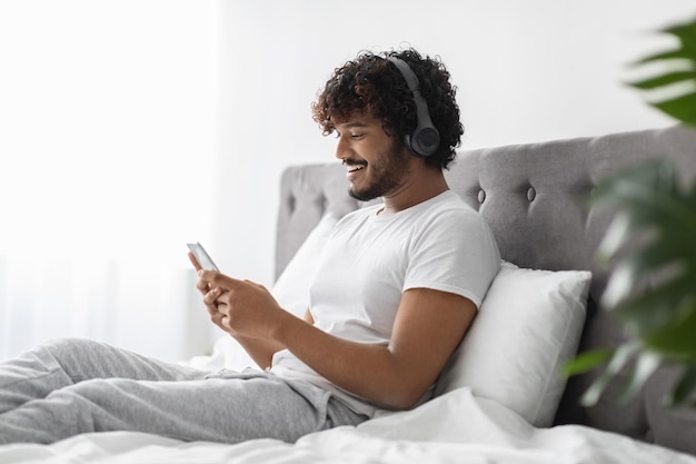
[[[404,76],[406,85],[414,93],[414,102],[416,103],[416,130],[404,136],[404,145],[414,155],[426,158],[437,151],[440,146],[440,132],[432,125],[428,103],[420,95],[420,82],[416,73],[402,59],[396,57],[387,57],[387,59],[396,65],[401,76]]]

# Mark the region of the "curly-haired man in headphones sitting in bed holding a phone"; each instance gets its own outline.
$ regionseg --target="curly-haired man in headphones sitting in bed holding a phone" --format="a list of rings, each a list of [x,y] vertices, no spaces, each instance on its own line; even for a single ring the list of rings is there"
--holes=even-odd
[[[304,319],[262,286],[198,269],[212,322],[262,371],[205,373],[89,340],[0,366],[0,443],[140,431],[195,441],[295,441],[427,401],[497,273],[499,254],[443,169],[463,128],[455,89],[415,50],[362,53],[312,107],[336,132],[350,195]]]

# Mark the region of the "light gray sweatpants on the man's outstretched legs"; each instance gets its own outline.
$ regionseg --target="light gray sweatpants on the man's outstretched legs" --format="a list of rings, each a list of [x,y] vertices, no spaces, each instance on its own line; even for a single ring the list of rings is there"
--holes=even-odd
[[[295,442],[366,418],[308,383],[252,369],[210,374],[86,339],[52,340],[0,364],[0,443],[106,431]]]

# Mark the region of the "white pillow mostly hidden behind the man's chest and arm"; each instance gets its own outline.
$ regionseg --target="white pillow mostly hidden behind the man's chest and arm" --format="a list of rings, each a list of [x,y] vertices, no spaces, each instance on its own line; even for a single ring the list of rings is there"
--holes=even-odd
[[[336,223],[338,223],[338,218],[334,214],[324,215],[271,289],[271,294],[280,303],[280,306],[297,317],[304,317],[305,310],[309,307],[309,284],[315,277],[324,245]]]

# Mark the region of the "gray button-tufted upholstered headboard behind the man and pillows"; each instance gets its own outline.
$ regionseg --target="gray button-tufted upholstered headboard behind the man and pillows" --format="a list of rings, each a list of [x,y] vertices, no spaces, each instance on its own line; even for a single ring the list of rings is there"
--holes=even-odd
[[[450,188],[488,221],[505,259],[537,269],[589,269],[594,275],[590,299],[596,302],[608,273],[598,267],[595,251],[612,214],[588,208],[587,198],[608,174],[658,156],[677,162],[684,181],[693,182],[696,131],[672,127],[461,151],[446,175]],[[295,166],[284,172],[277,275],[325,211],[344,215],[360,206],[346,189],[345,169],[337,162]],[[581,351],[615,346],[622,339],[614,316],[593,312],[593,306],[590,302]],[[658,372],[628,405],[617,403],[622,384],[615,382],[596,406],[583,408],[578,398],[596,375],[570,378],[558,424],[585,424],[696,454],[696,411],[660,406],[673,372]]]

